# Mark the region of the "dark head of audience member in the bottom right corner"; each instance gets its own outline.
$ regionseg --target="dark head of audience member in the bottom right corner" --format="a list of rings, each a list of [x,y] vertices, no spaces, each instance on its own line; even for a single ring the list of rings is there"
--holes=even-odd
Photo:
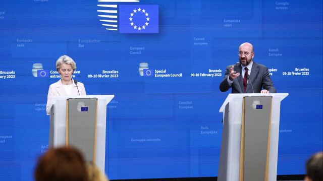
[[[323,181],[323,152],[316,153],[307,160],[304,180]]]

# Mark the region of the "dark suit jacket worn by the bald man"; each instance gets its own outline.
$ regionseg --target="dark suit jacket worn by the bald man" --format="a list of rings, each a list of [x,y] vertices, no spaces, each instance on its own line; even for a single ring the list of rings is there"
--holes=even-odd
[[[236,71],[236,73],[240,73],[240,76],[234,79],[233,83],[230,86],[228,83],[228,76],[230,74],[230,69],[232,68],[232,66],[234,66],[234,71]],[[225,92],[232,88],[232,93],[253,93],[250,81],[248,81],[246,92],[244,92],[242,79],[243,75],[240,63],[228,66],[225,73],[225,77],[220,84],[220,90],[222,92]],[[250,80],[253,86],[254,93],[260,93],[262,87],[270,93],[276,93],[276,89],[274,87],[273,81],[271,79],[271,76],[269,75],[268,68],[266,66],[257,64],[253,61],[250,73]]]

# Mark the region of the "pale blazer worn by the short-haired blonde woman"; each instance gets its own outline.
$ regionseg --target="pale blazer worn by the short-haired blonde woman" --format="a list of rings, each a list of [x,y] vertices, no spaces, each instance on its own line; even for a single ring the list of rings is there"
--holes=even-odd
[[[72,83],[72,89],[71,89],[70,95],[79,95],[79,92],[77,91],[77,87],[76,87],[73,79],[72,79],[72,82],[73,83]],[[77,82],[77,86],[79,88],[80,95],[86,95],[84,84]],[[64,85],[62,84],[62,79],[60,79],[58,82],[53,83],[49,86],[48,95],[47,95],[46,111],[48,109],[51,96],[55,96],[55,95],[67,95]]]

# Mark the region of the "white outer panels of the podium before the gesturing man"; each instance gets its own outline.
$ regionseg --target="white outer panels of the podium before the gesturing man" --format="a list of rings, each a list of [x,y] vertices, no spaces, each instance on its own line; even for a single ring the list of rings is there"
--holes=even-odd
[[[228,95],[227,99],[224,101],[223,105],[220,108],[220,112],[223,112],[224,122],[227,121],[227,123],[224,123],[224,129],[226,130],[223,131],[225,135],[223,135],[222,139],[226,138],[227,140],[223,140],[223,145],[221,145],[221,156],[218,173],[219,181],[239,180],[243,97],[248,96],[272,96],[268,180],[274,181],[277,179],[280,102],[286,96],[288,96],[288,93]],[[225,113],[227,114],[226,117]]]

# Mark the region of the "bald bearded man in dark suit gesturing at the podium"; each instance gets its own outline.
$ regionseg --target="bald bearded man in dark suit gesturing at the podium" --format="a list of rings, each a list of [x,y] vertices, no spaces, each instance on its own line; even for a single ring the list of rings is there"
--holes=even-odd
[[[252,44],[242,43],[238,55],[239,63],[227,67],[220,90],[225,92],[232,88],[232,93],[276,93],[268,68],[255,63],[252,59],[254,57]]]

